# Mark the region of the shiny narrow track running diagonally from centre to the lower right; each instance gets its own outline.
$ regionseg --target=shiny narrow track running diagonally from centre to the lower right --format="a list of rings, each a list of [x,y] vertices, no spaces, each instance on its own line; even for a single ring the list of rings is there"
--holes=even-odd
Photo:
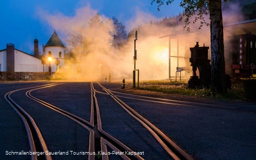
[[[172,140],[170,140],[162,131],[160,131],[159,129],[157,129],[157,127],[147,121],[146,118],[139,115],[135,110],[126,105],[126,103],[124,103],[121,99],[117,98],[116,95],[106,89],[103,85],[101,85],[100,83],[98,83],[98,85],[101,86],[106,93],[94,90],[95,92],[110,95],[127,113],[129,113],[133,118],[141,123],[153,135],[153,137],[159,142],[159,144],[173,159],[193,159],[179,146],[177,146]]]

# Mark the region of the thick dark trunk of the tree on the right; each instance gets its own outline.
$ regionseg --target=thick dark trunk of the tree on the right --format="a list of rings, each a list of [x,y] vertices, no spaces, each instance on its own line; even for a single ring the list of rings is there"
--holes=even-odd
[[[223,42],[223,22],[221,0],[209,1],[211,19],[211,92],[223,94],[227,92],[225,84],[225,58]]]

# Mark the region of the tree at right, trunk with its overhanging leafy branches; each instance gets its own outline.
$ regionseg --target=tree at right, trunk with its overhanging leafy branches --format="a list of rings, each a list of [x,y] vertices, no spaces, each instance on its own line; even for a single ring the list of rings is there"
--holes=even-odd
[[[156,2],[159,7],[166,4],[169,5],[174,0],[151,0],[151,4]],[[230,0],[223,0],[224,2]],[[183,7],[183,17],[185,17],[185,28],[189,30],[189,18],[195,16],[193,23],[200,20],[201,28],[203,25],[209,25],[204,19],[204,15],[210,14],[210,30],[211,30],[211,91],[213,94],[226,93],[225,79],[225,58],[223,44],[223,21],[222,21],[222,0],[182,0],[180,6]],[[182,17],[181,17],[182,19]],[[181,20],[180,19],[180,20]]]

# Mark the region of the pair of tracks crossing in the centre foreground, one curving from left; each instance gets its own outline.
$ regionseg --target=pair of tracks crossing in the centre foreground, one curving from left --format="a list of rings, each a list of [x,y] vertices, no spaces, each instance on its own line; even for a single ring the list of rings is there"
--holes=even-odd
[[[95,152],[96,154],[98,151],[102,151],[107,153],[107,146],[113,149],[114,151],[129,151],[131,153],[134,153],[133,150],[131,150],[129,147],[125,146],[122,142],[118,141],[114,137],[112,137],[110,134],[102,130],[101,125],[101,118],[100,118],[100,110],[98,106],[98,101],[95,96],[95,90],[93,88],[93,84],[91,83],[91,118],[90,122],[86,121],[85,119],[78,117],[74,114],[69,113],[66,110],[63,110],[61,108],[58,108],[56,106],[51,105],[50,103],[47,103],[43,100],[37,99],[31,95],[31,92],[39,89],[44,89],[49,86],[43,86],[40,88],[36,88],[33,90],[29,90],[26,92],[27,97],[30,99],[33,99],[34,101],[41,103],[42,105],[57,111],[58,113],[67,116],[68,118],[72,119],[76,123],[82,125],[85,129],[89,130],[89,153]],[[123,159],[143,159],[139,155],[119,155]],[[89,159],[108,159],[107,155],[102,155],[102,157],[98,157],[97,155],[89,154]]]

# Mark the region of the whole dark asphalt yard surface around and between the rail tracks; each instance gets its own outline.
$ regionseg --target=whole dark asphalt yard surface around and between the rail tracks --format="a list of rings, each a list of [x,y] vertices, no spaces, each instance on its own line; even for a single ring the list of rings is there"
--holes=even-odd
[[[0,156],[4,159],[29,159],[28,156],[6,156],[6,150],[29,150],[25,127],[20,117],[5,101],[6,92],[42,85],[44,83],[0,84],[1,130]],[[102,83],[109,89],[120,84]],[[104,92],[94,84],[94,88]],[[71,119],[26,97],[28,90],[12,94],[15,100],[35,120],[50,151],[88,151],[89,131]],[[86,121],[90,120],[90,83],[64,83],[31,93]],[[109,95],[96,93],[99,102],[102,129],[134,151],[144,151],[145,159],[170,159],[149,132]],[[187,153],[197,159],[255,159],[256,157],[256,105],[243,103],[239,110],[189,107],[160,104],[121,98],[127,105],[163,131]],[[218,104],[218,102],[217,102]],[[234,103],[232,103],[233,105]],[[241,103],[238,103],[238,106]],[[242,105],[241,105],[242,106]],[[249,106],[249,110],[246,108]],[[230,106],[234,108],[234,106]],[[111,149],[108,147],[108,150]],[[58,155],[53,159],[87,159],[80,155]],[[118,156],[111,155],[110,159]]]

